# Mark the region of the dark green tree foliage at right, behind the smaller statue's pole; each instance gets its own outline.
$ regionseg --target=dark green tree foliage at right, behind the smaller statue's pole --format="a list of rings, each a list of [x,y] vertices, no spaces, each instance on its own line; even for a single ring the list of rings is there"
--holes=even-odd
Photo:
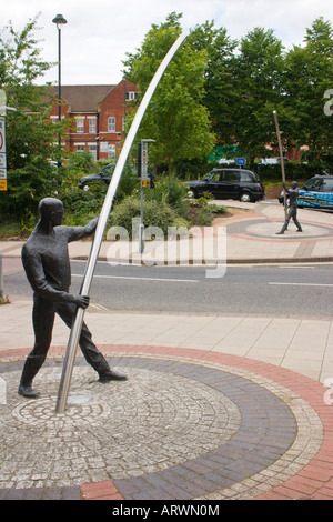
[[[199,32],[200,33],[200,32]],[[322,18],[306,30],[303,47],[285,52],[273,30],[254,28],[235,47],[225,30],[205,27],[210,43],[206,106],[226,157],[276,155],[273,110],[279,114],[284,151],[310,148],[306,159],[333,164],[333,119],[324,114],[324,93],[333,84],[332,26]],[[204,41],[203,38],[200,40]],[[305,159],[305,157],[304,157]]]

